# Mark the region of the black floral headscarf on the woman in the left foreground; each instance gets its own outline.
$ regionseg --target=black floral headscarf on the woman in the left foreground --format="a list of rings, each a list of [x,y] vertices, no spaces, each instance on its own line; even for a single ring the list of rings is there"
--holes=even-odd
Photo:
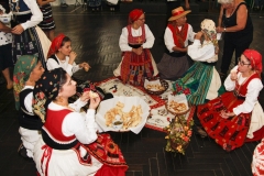
[[[63,74],[66,74],[63,68],[45,72],[35,84],[32,106],[34,113],[41,118],[43,123],[45,122],[47,106],[52,100],[55,100],[58,95]]]

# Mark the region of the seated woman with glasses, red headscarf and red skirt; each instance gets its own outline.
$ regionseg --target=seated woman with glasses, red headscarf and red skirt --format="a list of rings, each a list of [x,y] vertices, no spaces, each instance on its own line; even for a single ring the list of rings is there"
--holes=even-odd
[[[206,133],[226,151],[264,136],[263,109],[257,101],[263,88],[261,73],[262,55],[245,50],[224,80],[228,91],[198,106],[197,117]]]

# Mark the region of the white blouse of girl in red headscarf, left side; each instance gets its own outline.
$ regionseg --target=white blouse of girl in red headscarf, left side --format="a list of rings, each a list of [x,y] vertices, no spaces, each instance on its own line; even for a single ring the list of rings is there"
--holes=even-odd
[[[56,56],[56,54],[55,54]],[[55,69],[55,68],[64,68],[64,70],[66,70],[66,73],[69,75],[69,76],[73,76],[74,73],[76,73],[77,70],[80,69],[79,65],[77,65],[75,62],[73,65],[68,64],[69,62],[69,57],[66,56],[65,61],[59,61],[58,57],[56,56],[58,63],[53,59],[53,58],[48,58],[47,62],[46,62],[46,66],[47,66],[47,69],[48,70],[52,70],[52,69]]]

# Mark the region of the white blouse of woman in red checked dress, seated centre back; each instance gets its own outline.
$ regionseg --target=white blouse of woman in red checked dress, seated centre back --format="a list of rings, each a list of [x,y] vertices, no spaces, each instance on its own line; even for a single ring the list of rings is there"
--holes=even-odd
[[[142,47],[143,48],[152,48],[152,46],[154,45],[154,41],[155,41],[155,37],[153,35],[153,33],[151,32],[150,28],[144,24],[144,28],[145,28],[145,37],[146,37],[146,42],[143,43]],[[132,36],[141,36],[142,35],[142,28],[140,26],[138,30],[134,30],[131,28],[131,33],[132,33]],[[120,35],[120,38],[119,38],[119,46],[121,48],[122,52],[131,52],[132,51],[132,47],[129,46],[129,31],[125,28],[122,29],[122,33]]]

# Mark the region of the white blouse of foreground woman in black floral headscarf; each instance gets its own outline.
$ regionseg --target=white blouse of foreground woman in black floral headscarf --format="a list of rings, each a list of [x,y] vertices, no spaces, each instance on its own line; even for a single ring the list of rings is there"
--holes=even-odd
[[[76,106],[82,107],[84,102],[77,100]],[[70,106],[72,108],[72,106]],[[63,110],[65,107],[51,102],[48,105],[51,110]],[[85,116],[79,110],[68,113],[64,121],[62,131],[65,136],[75,135],[82,144],[90,144],[97,140],[97,124],[95,121],[96,110],[89,109]]]

